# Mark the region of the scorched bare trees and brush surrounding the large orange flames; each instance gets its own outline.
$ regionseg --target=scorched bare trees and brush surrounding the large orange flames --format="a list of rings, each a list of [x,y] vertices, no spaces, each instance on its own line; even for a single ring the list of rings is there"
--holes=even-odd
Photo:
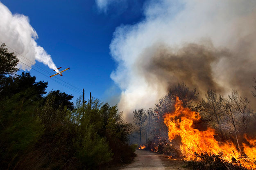
[[[256,86],[253,87],[256,90]],[[252,92],[252,95],[256,97],[255,91]],[[253,149],[256,147],[255,142],[253,142],[256,136],[254,130],[256,113],[252,109],[255,108],[255,105],[251,104],[247,97],[240,96],[234,89],[227,97],[218,95],[215,90],[208,89],[204,98],[200,99],[196,89],[190,90],[184,83],[170,88],[168,94],[159,99],[159,103],[154,108],[154,123],[150,135],[142,137],[142,143],[146,146],[145,150],[168,155],[170,159],[186,159],[186,155],[181,152],[180,148],[182,146],[181,137],[176,135],[173,140],[169,140],[168,128],[164,123],[164,115],[174,112],[176,97],[179,97],[184,108],[199,113],[200,119],[193,121],[193,128],[200,132],[208,128],[213,129],[215,131],[214,138],[217,142],[220,144],[233,143],[236,150],[230,150],[232,155],[240,155],[238,159],[232,157],[232,160],[227,161],[221,150],[218,154],[195,152],[194,159],[185,161],[186,168],[193,170],[255,169],[256,160],[253,160],[255,157],[250,158],[251,155],[246,155],[244,149],[246,146]],[[180,117],[174,118],[174,120],[177,119]],[[137,139],[138,141],[136,131],[134,134],[134,140]],[[247,140],[248,137],[253,140]],[[252,153],[254,152],[253,149],[251,150]],[[243,166],[245,164],[246,167]]]

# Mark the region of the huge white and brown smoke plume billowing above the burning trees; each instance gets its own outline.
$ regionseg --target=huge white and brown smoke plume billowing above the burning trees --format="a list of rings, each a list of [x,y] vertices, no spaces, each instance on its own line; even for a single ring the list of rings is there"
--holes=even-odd
[[[118,67],[111,78],[122,90],[127,120],[138,107],[154,107],[177,82],[253,100],[256,77],[256,1],[150,0],[145,19],[119,26],[110,44]]]

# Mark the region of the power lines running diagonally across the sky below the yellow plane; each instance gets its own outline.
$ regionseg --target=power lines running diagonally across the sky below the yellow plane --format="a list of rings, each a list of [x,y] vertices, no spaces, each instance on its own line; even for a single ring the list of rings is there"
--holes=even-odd
[[[1,42],[1,41],[0,41],[0,42]],[[1,42],[1,43],[3,44],[3,42]],[[7,45],[6,45],[6,46],[7,46]],[[38,69],[40,69],[41,71],[44,71],[45,73],[51,74],[50,72],[46,71],[46,70],[43,69],[42,67],[35,65],[36,63],[34,63],[34,62],[32,62],[31,60],[29,60],[27,57],[21,55],[20,53],[18,53],[17,51],[15,51],[14,49],[12,49],[11,47],[9,47],[9,46],[7,46],[7,47],[8,47],[9,49],[13,50],[14,52],[16,52],[17,54],[19,54],[20,56],[22,56],[22,57],[24,57],[25,59],[27,59],[29,62],[26,61],[25,59],[23,59],[23,58],[17,56],[18,58],[20,58],[20,59],[22,59],[22,60],[28,62],[28,63],[31,64],[31,65],[36,66]],[[21,61],[20,61],[20,62],[21,62]],[[31,62],[31,63],[30,63],[30,62]],[[21,62],[21,63],[25,64],[24,62]],[[28,66],[29,68],[32,68],[32,66],[29,66],[29,65],[27,65],[27,64],[25,64],[25,65]],[[37,71],[35,68],[32,68],[32,69],[35,70],[35,71]],[[41,73],[40,71],[37,71],[37,72]],[[45,77],[48,77],[47,75],[45,75],[45,74],[43,74],[43,73],[41,73],[41,74],[44,75]],[[48,78],[49,78],[49,77],[48,77]],[[59,79],[58,77],[56,77],[56,78]],[[65,85],[65,84],[63,84],[63,83],[61,83],[61,82],[58,82],[58,81],[55,80],[55,79],[51,79],[51,80],[53,80],[54,82],[57,82],[57,83],[61,84],[62,86],[65,86],[65,87],[69,88],[69,89],[72,90],[72,91],[75,91],[76,93],[81,94],[81,92],[79,92],[79,91],[80,91],[79,88],[77,88],[76,86],[73,86],[73,85],[71,85],[71,84],[69,84],[69,83],[63,81],[62,79],[59,79],[59,80],[61,80],[62,82],[66,83],[66,84],[68,84],[68,85],[70,85],[70,86],[72,86],[73,88],[72,88],[72,87],[68,87],[67,85]]]

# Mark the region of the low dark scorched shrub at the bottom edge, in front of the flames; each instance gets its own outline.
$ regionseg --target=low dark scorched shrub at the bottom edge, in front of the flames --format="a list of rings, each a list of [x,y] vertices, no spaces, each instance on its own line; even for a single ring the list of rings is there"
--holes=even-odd
[[[195,152],[195,159],[187,161],[185,168],[191,170],[246,170],[237,164],[229,163],[223,159],[223,154],[219,155]]]

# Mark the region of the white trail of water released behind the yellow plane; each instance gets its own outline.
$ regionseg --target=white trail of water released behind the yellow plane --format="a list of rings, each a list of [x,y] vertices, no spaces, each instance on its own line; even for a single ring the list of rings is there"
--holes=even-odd
[[[43,62],[43,64],[47,65],[49,68],[57,70],[51,56],[43,49],[43,47],[37,45],[36,39],[38,38],[38,35],[29,24],[29,18],[27,16],[21,14],[13,15],[11,11],[0,2],[0,18],[1,42],[28,58],[33,63],[36,63],[35,60],[37,60]],[[11,49],[9,51],[14,52]],[[18,68],[30,70],[33,63],[24,59],[24,57],[18,55],[16,52],[14,53],[20,60]]]

